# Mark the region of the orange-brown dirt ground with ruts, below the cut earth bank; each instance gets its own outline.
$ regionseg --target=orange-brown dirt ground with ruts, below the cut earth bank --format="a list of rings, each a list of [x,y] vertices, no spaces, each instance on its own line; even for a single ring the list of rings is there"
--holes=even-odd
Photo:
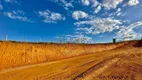
[[[142,80],[141,44],[1,70],[0,80]]]

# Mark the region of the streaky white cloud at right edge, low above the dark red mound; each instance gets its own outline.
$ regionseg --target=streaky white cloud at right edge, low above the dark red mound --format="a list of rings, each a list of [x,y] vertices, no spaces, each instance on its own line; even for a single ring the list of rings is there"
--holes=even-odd
[[[120,40],[132,40],[137,38],[140,34],[137,34],[133,29],[142,26],[142,22],[136,22],[128,27],[122,27],[119,32],[117,32],[117,38]]]

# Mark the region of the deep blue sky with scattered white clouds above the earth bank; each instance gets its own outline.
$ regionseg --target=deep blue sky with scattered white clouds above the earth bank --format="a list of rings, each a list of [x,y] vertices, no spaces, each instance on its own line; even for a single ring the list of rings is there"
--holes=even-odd
[[[0,0],[0,40],[111,42],[142,38],[142,0]]]

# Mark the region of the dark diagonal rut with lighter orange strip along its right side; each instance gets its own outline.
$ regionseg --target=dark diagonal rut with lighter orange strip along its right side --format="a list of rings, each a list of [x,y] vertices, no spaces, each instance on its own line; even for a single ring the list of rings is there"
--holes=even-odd
[[[94,80],[99,74],[105,71],[107,68],[111,67],[116,63],[120,58],[112,57],[101,61],[100,63],[90,67],[85,72],[76,76],[73,80]]]

